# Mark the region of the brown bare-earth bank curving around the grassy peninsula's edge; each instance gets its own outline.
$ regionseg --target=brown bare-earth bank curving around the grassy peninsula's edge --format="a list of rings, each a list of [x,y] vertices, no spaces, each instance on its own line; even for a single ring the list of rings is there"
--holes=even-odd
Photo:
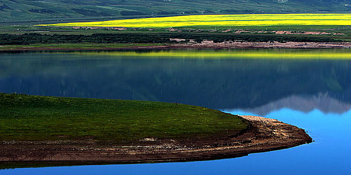
[[[196,142],[144,138],[144,145],[113,146],[87,140],[2,141],[0,168],[213,160],[312,142],[297,126],[260,116],[239,116],[251,124],[245,132]]]

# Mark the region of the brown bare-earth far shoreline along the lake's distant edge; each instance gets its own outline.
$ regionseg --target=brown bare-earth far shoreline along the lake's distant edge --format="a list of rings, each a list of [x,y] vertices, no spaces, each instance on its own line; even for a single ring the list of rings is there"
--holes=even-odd
[[[70,43],[71,44],[71,43]],[[128,50],[128,49],[251,49],[251,48],[281,48],[281,49],[311,49],[311,48],[351,48],[351,42],[219,42],[203,41],[202,43],[192,44],[149,44],[149,45],[126,45],[126,46],[113,46],[109,44],[99,43],[85,43],[85,46],[72,48],[65,44],[57,44],[57,46],[45,46],[45,44],[38,44],[40,46],[26,46],[16,47],[20,45],[0,45],[0,52],[13,52],[13,51],[75,51],[75,50]],[[34,44],[35,45],[35,44]],[[43,45],[43,46],[41,46]],[[78,45],[78,44],[77,44]],[[14,47],[15,46],[15,47]],[[91,46],[87,48],[86,46]]]

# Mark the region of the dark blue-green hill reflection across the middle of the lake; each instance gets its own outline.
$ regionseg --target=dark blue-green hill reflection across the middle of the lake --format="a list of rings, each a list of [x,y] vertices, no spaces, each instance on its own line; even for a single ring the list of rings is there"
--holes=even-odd
[[[38,54],[0,60],[0,91],[211,108],[252,108],[293,94],[318,92],[351,102],[347,60],[96,59],[96,55],[57,59],[61,56],[52,54],[38,59]]]

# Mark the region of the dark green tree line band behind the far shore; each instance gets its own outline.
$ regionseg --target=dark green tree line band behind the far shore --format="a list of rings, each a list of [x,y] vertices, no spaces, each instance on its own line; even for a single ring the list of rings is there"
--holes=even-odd
[[[287,35],[253,35],[253,34],[210,34],[210,33],[97,33],[91,35],[80,34],[38,34],[26,33],[21,35],[0,34],[0,44],[33,44],[33,43],[170,43],[169,38],[223,41],[298,41],[298,42],[341,42],[340,39],[329,37],[287,36]]]

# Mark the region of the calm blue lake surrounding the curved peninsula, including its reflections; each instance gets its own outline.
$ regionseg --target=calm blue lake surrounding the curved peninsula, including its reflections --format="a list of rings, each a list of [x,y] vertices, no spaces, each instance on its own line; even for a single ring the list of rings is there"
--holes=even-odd
[[[0,92],[179,102],[275,118],[314,142],[211,161],[0,174],[350,174],[350,49],[0,53]]]

